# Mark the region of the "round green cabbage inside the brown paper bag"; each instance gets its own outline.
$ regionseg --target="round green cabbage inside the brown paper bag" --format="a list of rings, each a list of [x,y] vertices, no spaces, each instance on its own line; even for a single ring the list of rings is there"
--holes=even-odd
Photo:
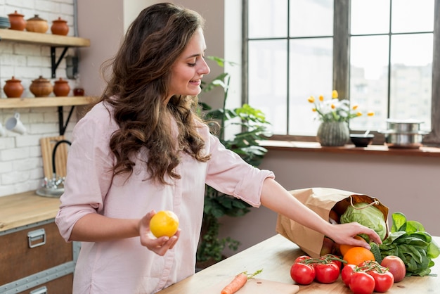
[[[375,230],[382,241],[387,236],[387,223],[385,222],[384,215],[377,207],[368,205],[368,203],[356,203],[353,206],[347,207],[347,210],[341,215],[340,222],[341,224],[358,222]],[[362,237],[369,241],[368,236]]]

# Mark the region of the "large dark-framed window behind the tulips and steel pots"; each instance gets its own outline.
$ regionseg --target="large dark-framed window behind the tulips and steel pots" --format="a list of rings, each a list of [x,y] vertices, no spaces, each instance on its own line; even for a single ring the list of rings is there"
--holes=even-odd
[[[425,141],[440,143],[440,54],[434,50],[440,0],[245,4],[244,94],[266,113],[274,134],[314,137],[319,122],[307,98],[330,98],[337,89],[340,98],[375,112],[351,120],[351,129],[386,129],[387,118],[415,118],[430,131]]]

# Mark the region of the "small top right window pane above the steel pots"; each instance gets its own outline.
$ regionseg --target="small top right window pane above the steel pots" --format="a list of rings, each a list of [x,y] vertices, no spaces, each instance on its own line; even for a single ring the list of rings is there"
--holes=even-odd
[[[392,32],[432,32],[434,0],[393,0]]]

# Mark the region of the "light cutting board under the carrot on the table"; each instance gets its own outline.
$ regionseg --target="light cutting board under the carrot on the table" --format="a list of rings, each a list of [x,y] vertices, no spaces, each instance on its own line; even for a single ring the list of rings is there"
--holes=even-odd
[[[233,280],[225,279],[200,294],[220,294],[221,290]],[[237,294],[294,294],[299,291],[299,286],[288,283],[280,283],[276,281],[268,281],[264,279],[249,279],[245,286],[238,290]]]

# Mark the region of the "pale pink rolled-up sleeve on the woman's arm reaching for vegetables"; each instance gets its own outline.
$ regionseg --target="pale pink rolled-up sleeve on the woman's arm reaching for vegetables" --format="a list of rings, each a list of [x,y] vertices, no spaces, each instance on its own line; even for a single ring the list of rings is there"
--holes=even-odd
[[[260,196],[266,178],[275,178],[273,172],[259,170],[242,160],[237,153],[226,149],[216,136],[209,135],[206,183],[222,193],[240,198],[253,207],[261,205]]]

